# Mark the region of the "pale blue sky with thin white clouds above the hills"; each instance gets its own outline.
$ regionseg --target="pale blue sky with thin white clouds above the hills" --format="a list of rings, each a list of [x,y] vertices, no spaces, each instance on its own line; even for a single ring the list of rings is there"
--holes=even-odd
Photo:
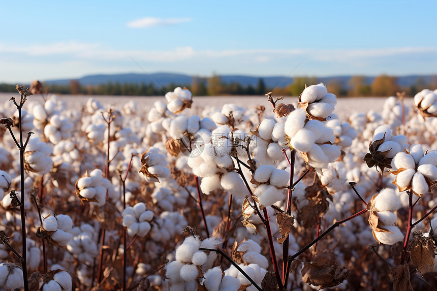
[[[437,74],[435,11],[435,0],[4,1],[0,82]]]

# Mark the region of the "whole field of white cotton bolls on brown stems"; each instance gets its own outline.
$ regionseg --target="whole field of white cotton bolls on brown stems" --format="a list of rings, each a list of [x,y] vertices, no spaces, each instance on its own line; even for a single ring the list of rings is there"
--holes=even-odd
[[[0,290],[437,288],[437,90],[339,115],[324,84],[200,110],[177,87],[147,114],[17,90]]]

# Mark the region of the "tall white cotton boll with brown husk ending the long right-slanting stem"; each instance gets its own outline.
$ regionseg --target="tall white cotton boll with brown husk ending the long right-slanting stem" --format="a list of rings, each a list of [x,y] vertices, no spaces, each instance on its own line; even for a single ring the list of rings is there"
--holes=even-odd
[[[378,243],[392,245],[402,241],[403,234],[397,226],[395,213],[400,207],[399,198],[390,188],[376,193],[368,202],[369,223],[373,230],[373,237]]]

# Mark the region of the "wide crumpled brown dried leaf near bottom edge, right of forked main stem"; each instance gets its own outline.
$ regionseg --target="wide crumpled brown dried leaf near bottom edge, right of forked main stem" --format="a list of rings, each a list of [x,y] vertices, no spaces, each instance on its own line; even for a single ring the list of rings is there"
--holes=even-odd
[[[305,263],[302,269],[302,281],[319,286],[319,289],[333,287],[346,279],[349,271],[347,269],[338,270],[338,265],[326,265],[322,263]]]

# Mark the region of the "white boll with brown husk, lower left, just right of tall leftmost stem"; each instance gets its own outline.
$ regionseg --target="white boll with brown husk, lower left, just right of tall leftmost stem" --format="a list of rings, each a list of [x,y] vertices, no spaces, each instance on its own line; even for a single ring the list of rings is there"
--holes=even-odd
[[[65,214],[47,215],[43,217],[40,234],[56,246],[65,246],[73,238],[70,231],[73,228],[73,220]]]

